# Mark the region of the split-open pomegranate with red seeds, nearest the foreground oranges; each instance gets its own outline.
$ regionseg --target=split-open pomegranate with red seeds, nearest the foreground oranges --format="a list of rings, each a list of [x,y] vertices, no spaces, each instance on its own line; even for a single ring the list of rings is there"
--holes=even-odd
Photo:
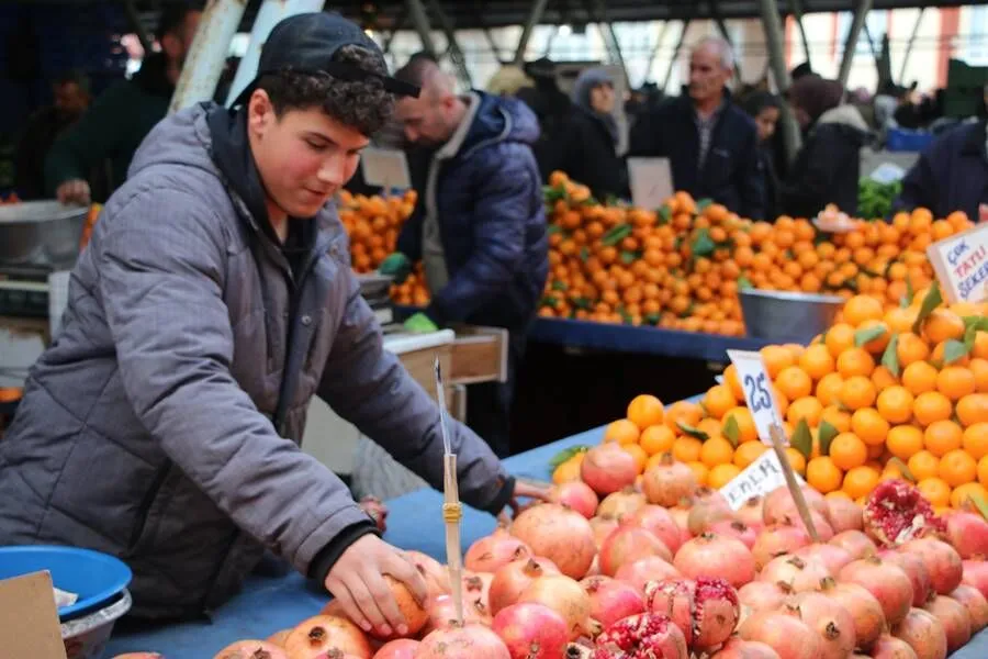
[[[864,529],[879,545],[895,547],[945,526],[917,488],[896,479],[882,481],[868,495]]]

